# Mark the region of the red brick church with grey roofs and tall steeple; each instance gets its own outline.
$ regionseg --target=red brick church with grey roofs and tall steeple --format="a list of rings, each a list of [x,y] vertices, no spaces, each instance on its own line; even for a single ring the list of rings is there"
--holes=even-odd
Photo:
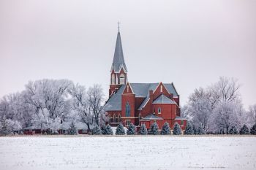
[[[133,123],[146,128],[157,122],[159,128],[167,122],[173,129],[174,123],[186,128],[187,120],[181,117],[179,95],[172,83],[132,83],[128,82],[127,66],[118,30],[113,63],[110,70],[109,98],[104,106],[108,113],[109,123],[124,126]]]

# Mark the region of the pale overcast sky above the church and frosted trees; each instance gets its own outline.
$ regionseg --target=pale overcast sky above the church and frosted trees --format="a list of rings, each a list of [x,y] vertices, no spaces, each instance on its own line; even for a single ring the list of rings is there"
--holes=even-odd
[[[69,79],[108,95],[121,22],[129,82],[173,82],[181,105],[220,76],[256,104],[256,1],[0,1],[0,97]]]

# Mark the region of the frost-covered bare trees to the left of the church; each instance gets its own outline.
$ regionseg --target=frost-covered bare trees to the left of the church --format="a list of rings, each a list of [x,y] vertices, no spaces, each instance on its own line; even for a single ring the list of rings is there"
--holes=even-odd
[[[30,81],[20,93],[1,98],[0,134],[22,132],[32,125],[57,132],[64,122],[85,123],[90,131],[108,119],[103,103],[100,85],[86,89],[70,80]]]

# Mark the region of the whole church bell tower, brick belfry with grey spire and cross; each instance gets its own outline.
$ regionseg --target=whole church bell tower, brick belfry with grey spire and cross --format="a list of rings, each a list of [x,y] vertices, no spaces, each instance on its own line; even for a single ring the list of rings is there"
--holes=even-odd
[[[116,93],[121,85],[127,83],[127,66],[124,62],[124,53],[121,45],[121,36],[119,31],[118,23],[118,33],[116,38],[116,48],[113,58],[113,63],[110,70],[110,89],[109,96],[112,96],[113,93]]]

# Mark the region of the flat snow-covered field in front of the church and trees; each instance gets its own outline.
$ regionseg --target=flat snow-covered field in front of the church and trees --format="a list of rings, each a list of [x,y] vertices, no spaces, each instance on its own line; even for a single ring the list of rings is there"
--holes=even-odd
[[[1,137],[0,169],[256,169],[256,137]]]

